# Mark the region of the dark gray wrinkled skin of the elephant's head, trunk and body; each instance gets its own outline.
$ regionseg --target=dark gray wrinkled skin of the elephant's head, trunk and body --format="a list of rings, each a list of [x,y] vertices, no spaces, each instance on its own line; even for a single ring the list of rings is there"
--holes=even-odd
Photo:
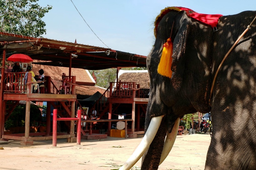
[[[223,16],[218,21],[212,53],[213,74],[233,43],[255,17],[255,11]],[[172,78],[157,73],[163,43],[173,40]],[[142,170],[158,169],[165,135],[178,117],[208,112],[213,29],[184,11],[171,11],[160,21],[154,47],[147,57],[150,97],[145,130],[154,116],[164,115],[143,155]],[[256,21],[225,60],[213,89],[213,137],[205,169],[256,169]],[[189,146],[188,146],[189,147]],[[171,166],[171,165],[170,165]]]

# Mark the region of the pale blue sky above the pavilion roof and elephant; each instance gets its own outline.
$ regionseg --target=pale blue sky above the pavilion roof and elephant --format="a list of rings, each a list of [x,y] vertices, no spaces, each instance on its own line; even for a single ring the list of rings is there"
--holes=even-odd
[[[165,7],[233,15],[256,10],[256,0],[72,0],[96,35],[111,49],[147,56],[154,43],[153,22]],[[39,0],[53,8],[43,17],[45,38],[107,48],[70,0]]]

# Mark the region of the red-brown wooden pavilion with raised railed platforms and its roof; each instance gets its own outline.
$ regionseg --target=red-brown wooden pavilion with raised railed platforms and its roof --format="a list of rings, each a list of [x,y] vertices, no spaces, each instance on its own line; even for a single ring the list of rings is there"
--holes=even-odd
[[[51,81],[51,77],[46,77],[47,92],[31,93],[33,82],[30,81],[31,74],[28,74],[28,83],[24,84],[24,73],[9,73],[5,72],[6,59],[12,54],[26,54],[32,59],[44,60],[34,64],[51,65],[69,67],[69,75],[66,77],[70,80],[68,93],[54,94],[52,90],[57,87]],[[2,57],[1,68],[1,85],[0,85],[0,140],[21,140],[21,145],[32,145],[34,140],[52,139],[50,106],[58,109],[64,108],[65,112],[71,118],[75,117],[76,106],[79,106],[75,95],[76,77],[71,75],[71,68],[83,68],[88,70],[101,70],[106,68],[122,67],[146,67],[146,56],[130,54],[122,51],[111,50],[107,48],[95,47],[90,45],[82,45],[65,41],[50,40],[46,38],[33,38],[24,35],[15,35],[5,32],[0,32],[0,57]],[[118,76],[117,76],[118,78]],[[72,81],[71,81],[72,80]],[[118,82],[118,79],[117,79]],[[132,103],[132,130],[130,137],[134,137],[137,133],[134,131],[135,125],[135,104],[147,103],[148,99],[140,92],[139,85],[135,82],[126,82],[128,88],[120,88],[122,83],[118,82],[119,86],[113,88],[113,83],[108,88],[109,106],[108,119],[111,119],[113,103]],[[54,90],[53,90],[54,91]],[[107,92],[107,91],[106,91]],[[105,94],[104,94],[105,95]],[[19,101],[26,101],[26,118],[25,118],[25,133],[23,134],[5,134],[4,123],[12,113]],[[47,130],[46,132],[31,133],[29,129],[30,117],[30,101],[46,101],[47,102]],[[58,103],[58,104],[56,104]],[[81,108],[81,106],[80,106]],[[60,117],[64,117],[62,111],[58,111]],[[88,117],[88,116],[87,116]],[[110,129],[110,122],[108,129]],[[84,131],[81,131],[85,135]],[[59,133],[57,138],[68,138],[69,142],[75,142],[75,123],[70,123],[70,133]]]

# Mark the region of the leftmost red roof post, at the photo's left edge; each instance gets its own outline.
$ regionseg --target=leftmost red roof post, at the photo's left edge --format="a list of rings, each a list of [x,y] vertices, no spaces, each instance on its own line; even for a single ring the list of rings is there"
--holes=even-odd
[[[2,68],[1,68],[1,84],[0,84],[0,138],[3,135],[4,132],[4,112],[2,111],[2,102],[3,102],[3,86],[4,86],[4,68],[5,68],[5,54],[6,54],[6,49],[3,50],[3,62],[2,62]]]

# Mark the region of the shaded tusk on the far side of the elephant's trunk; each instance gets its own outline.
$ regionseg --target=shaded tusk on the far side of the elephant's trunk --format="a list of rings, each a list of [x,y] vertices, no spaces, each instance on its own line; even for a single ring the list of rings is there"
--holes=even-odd
[[[178,129],[179,129],[179,118],[175,121],[172,132],[167,133],[167,135],[166,135],[166,139],[164,141],[163,151],[162,151],[162,154],[161,154],[159,165],[161,163],[163,163],[164,159],[168,156],[171,149],[173,148],[173,144],[175,142],[175,139],[176,139],[176,136],[177,136],[177,133],[178,133]]]

